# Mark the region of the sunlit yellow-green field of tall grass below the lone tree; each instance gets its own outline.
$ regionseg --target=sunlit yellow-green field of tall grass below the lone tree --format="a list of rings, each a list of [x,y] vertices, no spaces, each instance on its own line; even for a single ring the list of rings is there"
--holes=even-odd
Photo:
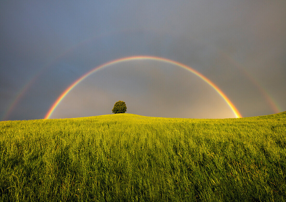
[[[286,201],[286,112],[0,122],[0,201]]]

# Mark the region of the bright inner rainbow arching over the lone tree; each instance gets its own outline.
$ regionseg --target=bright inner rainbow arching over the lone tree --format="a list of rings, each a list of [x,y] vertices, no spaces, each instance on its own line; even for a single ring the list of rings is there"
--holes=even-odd
[[[225,102],[229,105],[229,107],[231,108],[231,110],[233,111],[235,116],[237,118],[241,118],[241,114],[236,109],[236,107],[233,105],[233,103],[228,99],[228,97],[223,93],[223,91],[221,91],[221,89],[219,89],[219,87],[217,87],[217,85],[212,83],[212,81],[210,81],[210,79],[208,79],[207,77],[205,77],[204,75],[202,75],[198,71],[196,71],[196,70],[190,68],[189,66],[186,66],[186,65],[184,65],[184,64],[182,64],[180,62],[176,62],[174,60],[169,60],[167,58],[160,58],[160,57],[156,57],[156,56],[131,56],[131,57],[119,58],[119,59],[116,59],[116,60],[112,60],[110,62],[106,62],[106,63],[104,63],[104,64],[102,64],[100,66],[95,67],[94,69],[90,70],[89,72],[87,72],[86,74],[81,76],[79,79],[74,81],[74,83],[72,83],[72,85],[70,85],[67,89],[65,89],[65,91],[63,91],[63,93],[53,103],[53,105],[51,106],[51,108],[49,109],[47,114],[45,115],[44,119],[49,119],[49,117],[51,116],[51,114],[53,113],[53,111],[55,110],[57,105],[59,105],[59,103],[67,95],[67,93],[69,93],[69,91],[71,91],[78,83],[80,83],[86,77],[90,76],[92,73],[96,72],[97,70],[99,70],[101,68],[104,68],[104,67],[107,67],[107,66],[110,66],[110,65],[113,65],[113,64],[117,64],[117,63],[120,63],[120,62],[130,61],[130,60],[157,60],[157,61],[162,61],[162,62],[167,62],[167,63],[170,63],[170,64],[174,64],[174,65],[180,66],[180,67],[182,67],[182,68],[184,68],[186,70],[189,70],[190,72],[194,73],[196,76],[198,76],[202,80],[204,80],[206,83],[208,83],[213,89],[215,89],[217,91],[217,93],[219,93],[219,95],[221,95],[221,97],[223,97]]]

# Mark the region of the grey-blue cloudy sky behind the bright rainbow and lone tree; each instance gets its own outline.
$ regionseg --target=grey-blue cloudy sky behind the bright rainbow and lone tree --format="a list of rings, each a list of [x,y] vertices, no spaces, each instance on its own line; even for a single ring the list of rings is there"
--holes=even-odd
[[[243,117],[286,111],[286,1],[0,1],[0,120],[43,119],[67,87],[119,58],[190,66]],[[232,118],[225,100],[179,66],[130,60],[72,89],[51,118],[127,113]]]

